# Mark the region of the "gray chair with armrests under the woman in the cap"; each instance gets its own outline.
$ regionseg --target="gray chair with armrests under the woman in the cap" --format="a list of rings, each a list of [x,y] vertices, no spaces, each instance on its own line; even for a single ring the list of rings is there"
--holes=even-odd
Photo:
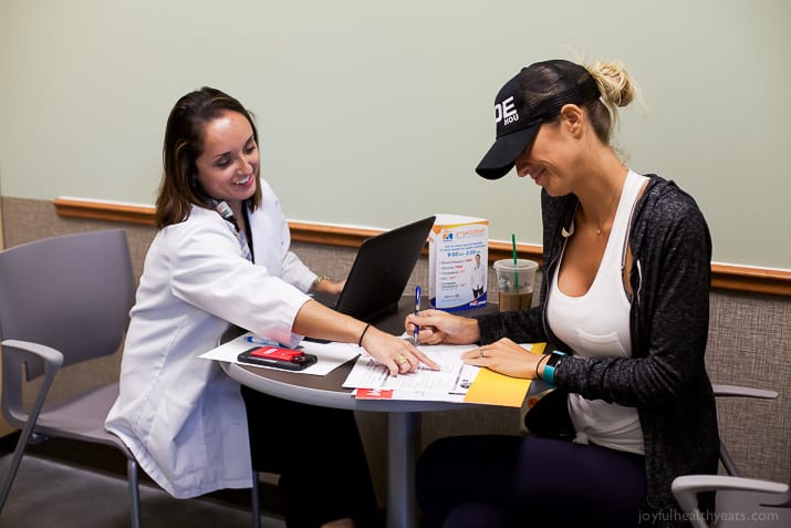
[[[715,385],[717,396],[742,396],[773,400],[774,391],[763,391],[732,385]],[[720,460],[727,475],[684,475],[673,480],[673,495],[695,528],[727,527],[791,527],[791,475],[789,484],[745,478],[720,444]],[[716,507],[704,516],[698,505],[698,494],[716,493]]]

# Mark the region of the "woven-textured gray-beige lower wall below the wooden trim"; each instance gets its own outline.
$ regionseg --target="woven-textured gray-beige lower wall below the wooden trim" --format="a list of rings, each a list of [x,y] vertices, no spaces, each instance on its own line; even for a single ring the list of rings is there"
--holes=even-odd
[[[50,201],[4,198],[4,239],[15,246],[32,239],[73,231],[118,227],[94,220],[62,219]],[[137,275],[154,229],[127,229]],[[316,272],[343,277],[355,251],[311,244],[293,249]],[[410,286],[428,283],[421,260]],[[719,402],[722,437],[745,476],[784,482],[791,473],[791,298],[714,291],[707,364],[715,383],[748,385],[780,392],[777,401],[729,400]],[[106,359],[90,372],[74,370],[55,391],[69,392],[74,379],[101,382],[117,376],[118,356]],[[360,413],[358,421],[371,459],[379,499],[384,499],[387,426],[381,413]],[[519,433],[519,410],[480,407],[423,416],[423,445],[445,435],[465,433]],[[679,432],[683,434],[684,432]]]

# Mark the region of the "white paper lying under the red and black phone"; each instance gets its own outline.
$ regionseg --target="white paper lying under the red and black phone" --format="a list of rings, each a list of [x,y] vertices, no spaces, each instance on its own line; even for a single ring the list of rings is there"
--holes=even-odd
[[[282,370],[278,369],[277,366],[267,366],[267,365],[253,365],[250,363],[241,363],[237,356],[241,353],[244,352],[246,350],[256,346],[256,343],[249,342],[247,339],[248,337],[254,337],[252,333],[243,333],[239,335],[238,338],[228,341],[225,344],[221,344],[217,346],[216,349],[211,349],[208,352],[205,352],[200,354],[199,358],[206,359],[206,360],[216,360],[216,361],[225,361],[228,363],[240,363],[244,364],[246,366],[257,366],[260,369],[275,369],[275,370]],[[352,360],[360,355],[360,352],[363,350],[356,344],[353,343],[315,343],[313,341],[302,341],[300,343],[300,346],[305,353],[310,354],[315,354],[319,361],[316,361],[314,364],[308,366],[304,370],[301,371],[288,371],[288,372],[293,372],[294,374],[313,374],[313,375],[325,375],[335,370],[336,367],[341,366],[348,360]]]

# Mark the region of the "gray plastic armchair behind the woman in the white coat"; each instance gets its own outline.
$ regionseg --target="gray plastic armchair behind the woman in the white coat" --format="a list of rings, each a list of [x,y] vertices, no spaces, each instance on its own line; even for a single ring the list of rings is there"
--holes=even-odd
[[[9,424],[22,429],[0,489],[0,511],[28,443],[65,437],[112,446],[126,456],[132,526],[139,528],[137,460],[104,428],[117,381],[48,400],[63,367],[114,354],[123,343],[135,296],[125,231],[89,231],[6,249],[0,252],[0,283],[1,406]],[[42,375],[37,390],[30,382]],[[25,386],[35,396],[32,408],[23,397]],[[256,485],[252,499],[258,528]]]

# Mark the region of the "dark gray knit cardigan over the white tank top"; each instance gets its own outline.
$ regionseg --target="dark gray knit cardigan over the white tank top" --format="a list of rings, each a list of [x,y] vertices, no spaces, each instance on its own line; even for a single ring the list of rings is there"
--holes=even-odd
[[[565,359],[555,371],[559,393],[577,393],[637,408],[645,441],[648,503],[664,526],[685,526],[670,491],[679,475],[716,474],[719,434],[704,355],[708,337],[711,238],[695,200],[675,183],[648,175],[635,205],[628,244],[632,358]],[[482,343],[502,337],[571,352],[552,334],[544,309],[550,278],[570,227],[574,195],[541,195],[543,280],[540,303],[521,312],[478,318]],[[564,398],[565,400],[565,398]],[[564,406],[565,407],[565,406]]]

